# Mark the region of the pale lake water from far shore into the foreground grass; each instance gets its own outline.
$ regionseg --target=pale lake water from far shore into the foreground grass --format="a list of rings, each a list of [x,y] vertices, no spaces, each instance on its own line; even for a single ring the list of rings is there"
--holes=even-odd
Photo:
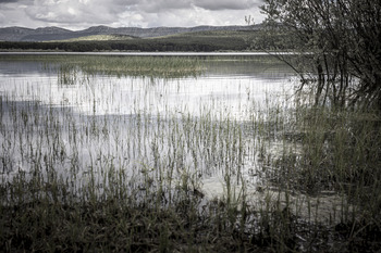
[[[198,189],[209,200],[238,199],[243,187],[253,201],[283,198],[260,190],[258,161],[261,150],[275,156],[285,143],[263,139],[256,122],[273,105],[292,110],[293,71],[269,55],[173,56],[198,58],[200,71],[149,77],[77,69],[63,84],[59,62],[0,55],[0,181],[38,169],[81,194],[89,182],[107,191],[119,172],[143,195],[160,185],[168,194]],[[303,198],[296,210],[307,205]]]

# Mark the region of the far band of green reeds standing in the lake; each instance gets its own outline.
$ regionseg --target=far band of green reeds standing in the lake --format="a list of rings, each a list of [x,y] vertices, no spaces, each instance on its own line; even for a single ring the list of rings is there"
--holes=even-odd
[[[1,55],[2,61],[33,61],[57,72],[62,84],[74,84],[78,72],[87,76],[115,75],[147,78],[196,77],[204,71],[197,58],[110,55]]]

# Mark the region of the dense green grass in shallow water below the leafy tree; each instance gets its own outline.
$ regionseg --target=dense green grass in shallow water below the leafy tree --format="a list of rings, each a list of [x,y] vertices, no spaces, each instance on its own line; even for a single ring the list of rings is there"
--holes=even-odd
[[[279,194],[284,207],[280,216],[288,215],[294,206],[298,212],[292,214],[327,224],[333,240],[347,240],[336,241],[336,251],[379,249],[380,114],[310,105],[305,103],[307,97],[303,94],[295,100],[296,106],[281,114],[282,130],[271,140],[282,143],[281,152],[263,154],[265,178],[285,190]],[[305,205],[304,199],[308,200]],[[319,213],[325,222],[318,218]],[[324,231],[323,227],[319,230]]]

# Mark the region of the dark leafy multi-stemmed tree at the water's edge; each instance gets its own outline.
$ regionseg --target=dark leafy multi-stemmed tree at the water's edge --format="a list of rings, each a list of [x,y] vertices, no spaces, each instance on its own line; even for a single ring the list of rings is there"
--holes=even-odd
[[[271,50],[297,53],[294,61],[279,56],[298,72],[302,87],[314,85],[316,103],[381,109],[381,1],[265,2]]]

